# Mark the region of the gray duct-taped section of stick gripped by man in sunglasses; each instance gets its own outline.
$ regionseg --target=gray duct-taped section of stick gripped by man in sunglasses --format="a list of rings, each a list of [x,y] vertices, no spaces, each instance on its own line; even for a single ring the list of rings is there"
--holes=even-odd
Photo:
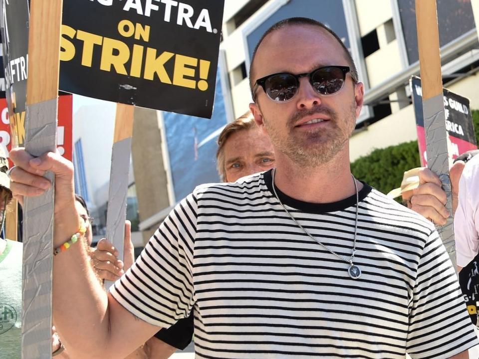
[[[56,150],[58,100],[26,107],[25,149],[35,157]],[[45,178],[52,183],[51,172]],[[23,204],[22,359],[51,358],[54,186]]]

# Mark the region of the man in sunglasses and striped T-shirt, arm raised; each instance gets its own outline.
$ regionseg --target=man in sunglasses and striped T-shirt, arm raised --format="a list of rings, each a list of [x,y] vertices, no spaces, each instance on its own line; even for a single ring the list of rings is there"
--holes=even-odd
[[[108,294],[81,246],[55,256],[55,323],[71,350],[123,358],[193,311],[197,358],[468,358],[478,339],[434,225],[351,175],[364,87],[341,40],[283,20],[250,76],[276,170],[197,187]],[[38,171],[56,174],[62,245],[79,225],[71,166],[11,157],[24,194],[46,184]]]

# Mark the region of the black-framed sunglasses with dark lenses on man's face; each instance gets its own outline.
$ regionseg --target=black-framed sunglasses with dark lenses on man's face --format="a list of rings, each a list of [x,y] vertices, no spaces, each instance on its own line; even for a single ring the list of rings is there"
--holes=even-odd
[[[289,101],[298,92],[301,77],[309,77],[309,83],[317,93],[324,96],[333,95],[343,87],[348,72],[348,66],[324,66],[298,75],[288,72],[267,75],[256,80],[252,90],[253,99],[256,87],[261,86],[274,102]]]

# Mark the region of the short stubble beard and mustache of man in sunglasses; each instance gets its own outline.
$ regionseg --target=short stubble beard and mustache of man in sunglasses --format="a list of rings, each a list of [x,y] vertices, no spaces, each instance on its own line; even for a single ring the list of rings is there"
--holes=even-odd
[[[308,132],[296,130],[295,132],[294,124],[299,119],[317,113],[326,114],[330,118],[327,129],[321,128]],[[356,124],[356,103],[353,100],[343,119],[340,119],[335,111],[324,106],[297,112],[287,121],[286,138],[279,134],[264,115],[263,119],[271,143],[277,151],[286,155],[300,168],[315,168],[333,160],[349,141]],[[343,121],[342,128],[338,125],[339,121]]]

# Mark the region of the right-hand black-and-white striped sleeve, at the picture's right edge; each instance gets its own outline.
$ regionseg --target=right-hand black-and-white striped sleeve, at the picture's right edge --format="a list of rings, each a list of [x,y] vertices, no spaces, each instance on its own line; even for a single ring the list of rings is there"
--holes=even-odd
[[[423,249],[409,303],[407,352],[413,359],[447,359],[477,344],[457,274],[434,230]]]

